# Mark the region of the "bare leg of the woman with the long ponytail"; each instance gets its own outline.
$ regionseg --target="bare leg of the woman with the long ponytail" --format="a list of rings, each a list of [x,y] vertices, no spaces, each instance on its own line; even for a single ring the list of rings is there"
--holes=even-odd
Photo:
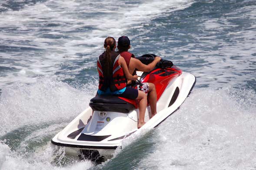
[[[139,102],[139,122],[138,122],[138,129],[143,126],[146,122],[144,121],[145,112],[146,112],[146,93],[138,90],[139,94],[136,100],[140,100]]]

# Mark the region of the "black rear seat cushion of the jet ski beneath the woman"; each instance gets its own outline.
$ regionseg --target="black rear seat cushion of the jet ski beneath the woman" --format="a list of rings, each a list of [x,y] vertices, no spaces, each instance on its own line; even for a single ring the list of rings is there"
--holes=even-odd
[[[99,95],[90,100],[90,107],[93,111],[114,111],[120,113],[129,113],[135,107],[113,95]]]

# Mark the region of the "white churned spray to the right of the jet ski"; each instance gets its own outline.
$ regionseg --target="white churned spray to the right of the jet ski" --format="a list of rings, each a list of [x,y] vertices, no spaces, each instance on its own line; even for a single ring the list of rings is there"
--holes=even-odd
[[[153,131],[154,150],[140,164],[173,170],[253,168],[255,98],[250,90],[194,89],[180,110]]]

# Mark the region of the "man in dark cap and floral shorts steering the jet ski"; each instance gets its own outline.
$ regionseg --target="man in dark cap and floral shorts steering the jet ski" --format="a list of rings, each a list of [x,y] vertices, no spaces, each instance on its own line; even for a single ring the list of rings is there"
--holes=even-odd
[[[120,55],[125,59],[126,64],[128,66],[128,70],[130,74],[134,74],[135,69],[142,71],[142,72],[150,72],[153,70],[158,62],[160,62],[161,58],[156,56],[154,61],[148,65],[143,64],[140,60],[136,59],[135,56],[128,52],[128,49],[131,48],[130,46],[130,39],[127,36],[121,36],[118,39],[118,52]],[[128,85],[131,82],[128,82]],[[148,100],[150,103],[150,110],[152,117],[156,114],[156,87],[153,83],[140,83],[135,86],[138,90],[141,90],[148,94]]]

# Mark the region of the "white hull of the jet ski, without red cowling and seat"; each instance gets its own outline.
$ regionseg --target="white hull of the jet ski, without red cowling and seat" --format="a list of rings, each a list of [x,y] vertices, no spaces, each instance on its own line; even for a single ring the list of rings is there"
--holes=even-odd
[[[150,119],[146,109],[146,124],[137,129],[138,109],[129,113],[94,111],[87,108],[52,138],[52,143],[65,147],[66,154],[83,156],[97,152],[100,157],[113,157],[123,138],[143,129],[152,129],[173,114],[182,105],[196,83],[194,75],[182,72],[173,78],[157,101],[157,114]]]

